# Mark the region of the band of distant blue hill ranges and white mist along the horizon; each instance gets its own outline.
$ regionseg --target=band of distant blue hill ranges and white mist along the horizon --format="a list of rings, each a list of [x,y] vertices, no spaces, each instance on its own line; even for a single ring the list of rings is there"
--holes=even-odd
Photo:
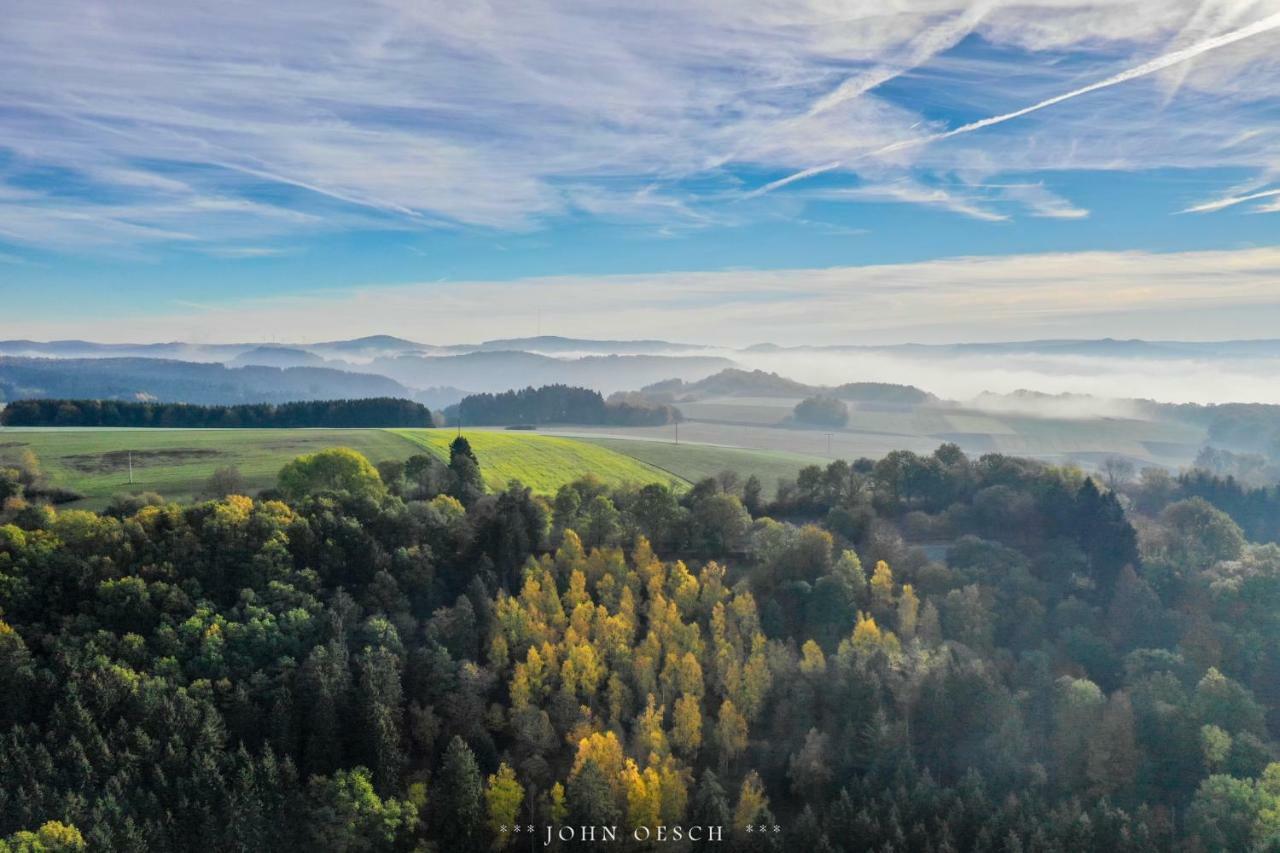
[[[774,392],[796,394],[845,387],[847,394],[854,393],[854,386],[868,384],[864,393],[878,393],[872,389],[877,386],[910,386],[922,394],[945,400],[983,398],[986,405],[995,405],[992,396],[1019,389],[1171,403],[1280,403],[1280,387],[1271,379],[1280,371],[1280,339],[758,343],[731,348],[659,339],[559,336],[436,345],[375,334],[316,343],[14,339],[0,341],[0,357],[5,359],[0,364],[0,393],[8,398],[14,394],[65,396],[74,387],[97,397],[232,403],[316,398],[315,394],[340,388],[342,396],[393,393],[444,407],[467,393],[553,383],[609,394],[678,380],[680,384],[666,391],[708,396],[717,389],[696,383],[724,370],[758,370],[777,374]],[[90,379],[91,362],[111,359],[131,364],[123,373],[99,364],[101,380]],[[41,360],[49,364],[35,364]],[[148,364],[161,361],[172,364]],[[251,378],[227,370],[205,375],[175,371],[173,364],[177,362],[233,369],[305,368],[321,373],[311,374],[307,382],[275,374]],[[60,378],[61,374],[67,375]],[[189,387],[177,378],[179,374],[192,378]],[[723,384],[727,379],[722,375],[717,382]],[[63,391],[55,394],[51,388]],[[740,393],[723,388],[721,392]],[[1029,401],[1015,398],[1011,403],[1027,406]]]

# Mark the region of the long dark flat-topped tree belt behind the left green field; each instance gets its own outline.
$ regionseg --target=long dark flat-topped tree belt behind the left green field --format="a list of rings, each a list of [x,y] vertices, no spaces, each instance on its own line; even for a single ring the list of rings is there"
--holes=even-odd
[[[426,406],[397,397],[314,400],[239,406],[123,402],[115,400],[18,400],[0,410],[4,426],[255,428],[430,426]]]

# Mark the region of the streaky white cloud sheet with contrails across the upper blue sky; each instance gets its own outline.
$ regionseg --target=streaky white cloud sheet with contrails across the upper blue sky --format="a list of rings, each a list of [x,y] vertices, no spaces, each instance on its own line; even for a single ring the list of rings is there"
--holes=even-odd
[[[1263,37],[1280,3],[1204,9],[18,4],[0,28],[0,236],[58,248],[236,246],[353,223],[526,231],[577,215],[700,228],[759,215],[727,204],[748,173],[844,169],[932,186],[963,170],[996,182],[1050,168],[1263,172],[1280,163],[1277,141],[1242,134],[1242,113],[1280,85]],[[982,61],[965,68],[970,54]],[[1126,70],[1079,85],[1117,65]],[[1160,93],[1121,86],[1172,68],[1185,74]],[[925,76],[929,99],[904,91]],[[1102,88],[1119,106],[1046,109]],[[975,106],[991,117],[954,129],[937,118]],[[973,133],[1012,119],[1020,140]],[[964,145],[927,145],[961,134]],[[873,169],[859,152],[876,152],[863,154]],[[253,206],[230,223],[201,199]]]

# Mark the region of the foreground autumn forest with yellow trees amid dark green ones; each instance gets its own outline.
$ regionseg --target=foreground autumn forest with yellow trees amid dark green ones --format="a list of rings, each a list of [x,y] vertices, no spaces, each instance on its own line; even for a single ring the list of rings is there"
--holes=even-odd
[[[943,446],[544,498],[460,438],[97,515],[19,471],[0,850],[1280,849],[1280,547],[1115,479]]]

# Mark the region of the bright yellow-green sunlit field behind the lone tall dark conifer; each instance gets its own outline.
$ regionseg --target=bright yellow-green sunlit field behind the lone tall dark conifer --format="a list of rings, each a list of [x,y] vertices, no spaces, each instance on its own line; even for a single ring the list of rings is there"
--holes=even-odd
[[[440,459],[448,459],[449,442],[457,434],[452,429],[388,432]],[[680,488],[687,485],[682,478],[639,459],[571,438],[480,429],[470,429],[465,434],[480,460],[480,471],[489,489],[506,488],[508,482],[516,479],[535,492],[552,493],[585,474],[594,474],[605,483],[664,482]]]

